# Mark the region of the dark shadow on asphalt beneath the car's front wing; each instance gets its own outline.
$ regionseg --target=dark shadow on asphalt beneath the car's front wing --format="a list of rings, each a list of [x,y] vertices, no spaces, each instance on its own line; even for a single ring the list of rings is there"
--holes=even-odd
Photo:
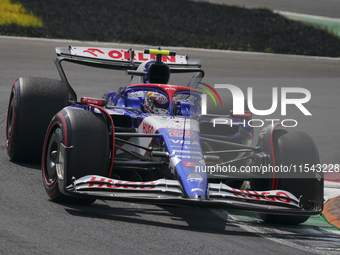
[[[124,204],[126,204],[125,208]],[[203,233],[254,236],[254,234],[242,231],[234,223],[229,223],[206,208],[154,206],[121,202],[119,202],[119,207],[97,203],[92,206],[66,204],[63,204],[63,206],[65,206],[67,213],[77,217],[99,218]]]

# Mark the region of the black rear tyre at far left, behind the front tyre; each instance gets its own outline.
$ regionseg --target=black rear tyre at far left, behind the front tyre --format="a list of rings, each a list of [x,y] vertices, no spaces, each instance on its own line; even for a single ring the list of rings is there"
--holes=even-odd
[[[7,112],[6,149],[12,161],[40,163],[46,129],[69,104],[65,83],[47,78],[19,78]]]

